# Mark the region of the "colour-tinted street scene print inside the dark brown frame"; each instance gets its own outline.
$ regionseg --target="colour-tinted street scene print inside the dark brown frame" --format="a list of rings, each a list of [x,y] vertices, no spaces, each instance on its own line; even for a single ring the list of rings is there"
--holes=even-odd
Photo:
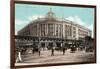
[[[95,6],[14,3],[14,64],[96,62]]]

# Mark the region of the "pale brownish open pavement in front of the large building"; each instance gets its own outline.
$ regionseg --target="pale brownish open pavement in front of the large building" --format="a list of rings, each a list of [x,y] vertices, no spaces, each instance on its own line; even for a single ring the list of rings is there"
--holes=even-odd
[[[76,51],[75,53],[70,53],[66,51],[63,55],[62,51],[54,51],[54,56],[51,56],[51,50],[41,51],[41,55],[38,53],[27,54],[22,56],[22,62],[16,63],[20,64],[49,64],[49,63],[72,63],[72,62],[91,62],[93,61],[93,52]]]

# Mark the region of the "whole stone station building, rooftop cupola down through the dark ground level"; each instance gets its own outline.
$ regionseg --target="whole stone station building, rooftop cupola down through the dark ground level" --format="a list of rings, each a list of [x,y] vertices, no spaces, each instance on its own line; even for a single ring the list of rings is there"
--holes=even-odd
[[[68,44],[73,44],[74,40],[81,40],[86,36],[91,37],[91,30],[73,21],[58,18],[52,9],[50,9],[45,17],[38,17],[19,30],[17,36],[24,38],[23,41],[16,41],[17,46],[29,47],[33,46],[33,43],[37,43],[45,47],[54,45],[60,47],[63,43],[67,43],[68,46]]]

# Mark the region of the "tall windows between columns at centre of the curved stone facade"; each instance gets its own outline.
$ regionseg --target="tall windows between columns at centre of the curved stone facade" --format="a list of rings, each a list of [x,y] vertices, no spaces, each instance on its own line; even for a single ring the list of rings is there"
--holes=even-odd
[[[61,36],[61,24],[41,24],[40,28],[41,36]]]

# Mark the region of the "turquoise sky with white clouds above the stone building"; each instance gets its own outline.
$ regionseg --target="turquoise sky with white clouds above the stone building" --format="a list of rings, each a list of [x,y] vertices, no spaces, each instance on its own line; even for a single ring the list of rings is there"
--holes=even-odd
[[[35,4],[15,4],[15,34],[24,26],[38,17],[44,17],[48,11],[55,13],[57,18],[74,21],[92,31],[94,25],[94,8],[69,7],[69,6],[50,6]]]

